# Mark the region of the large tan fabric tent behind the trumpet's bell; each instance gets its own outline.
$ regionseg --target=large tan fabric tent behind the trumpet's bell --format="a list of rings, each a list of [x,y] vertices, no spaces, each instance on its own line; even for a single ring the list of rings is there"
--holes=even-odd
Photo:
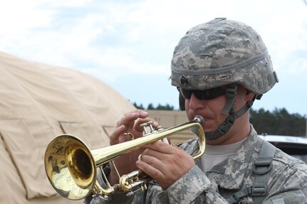
[[[0,203],[71,203],[46,177],[49,141],[65,133],[90,149],[108,146],[118,119],[135,107],[77,70],[0,52],[0,72]]]

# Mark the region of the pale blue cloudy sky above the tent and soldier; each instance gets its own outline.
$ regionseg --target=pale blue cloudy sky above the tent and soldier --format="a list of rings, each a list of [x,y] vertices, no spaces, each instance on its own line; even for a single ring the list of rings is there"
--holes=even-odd
[[[1,0],[0,51],[88,73],[143,107],[178,109],[172,52],[216,17],[253,27],[269,50],[279,83],[253,108],[307,115],[307,0]]]

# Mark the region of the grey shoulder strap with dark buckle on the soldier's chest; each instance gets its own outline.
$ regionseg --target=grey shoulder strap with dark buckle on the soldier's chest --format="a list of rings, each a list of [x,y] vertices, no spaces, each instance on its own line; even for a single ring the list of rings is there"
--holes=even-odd
[[[273,164],[272,160],[276,151],[276,147],[268,141],[263,141],[259,157],[252,164],[254,171],[253,186],[249,186],[231,195],[229,203],[239,203],[239,201],[247,195],[254,196],[255,203],[261,203],[267,194],[267,186],[269,181],[269,171]]]

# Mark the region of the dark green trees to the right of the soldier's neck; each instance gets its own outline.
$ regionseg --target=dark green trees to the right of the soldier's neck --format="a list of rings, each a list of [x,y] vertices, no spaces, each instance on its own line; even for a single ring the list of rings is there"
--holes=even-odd
[[[303,136],[306,134],[306,117],[289,114],[285,108],[268,110],[251,109],[250,122],[259,134]]]

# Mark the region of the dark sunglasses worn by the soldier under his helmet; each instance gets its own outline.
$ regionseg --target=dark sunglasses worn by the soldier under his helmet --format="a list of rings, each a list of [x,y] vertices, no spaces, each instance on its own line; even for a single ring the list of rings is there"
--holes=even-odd
[[[191,98],[192,93],[199,100],[212,100],[226,94],[226,90],[222,87],[215,87],[209,90],[185,90],[179,87],[177,89],[186,100]]]

